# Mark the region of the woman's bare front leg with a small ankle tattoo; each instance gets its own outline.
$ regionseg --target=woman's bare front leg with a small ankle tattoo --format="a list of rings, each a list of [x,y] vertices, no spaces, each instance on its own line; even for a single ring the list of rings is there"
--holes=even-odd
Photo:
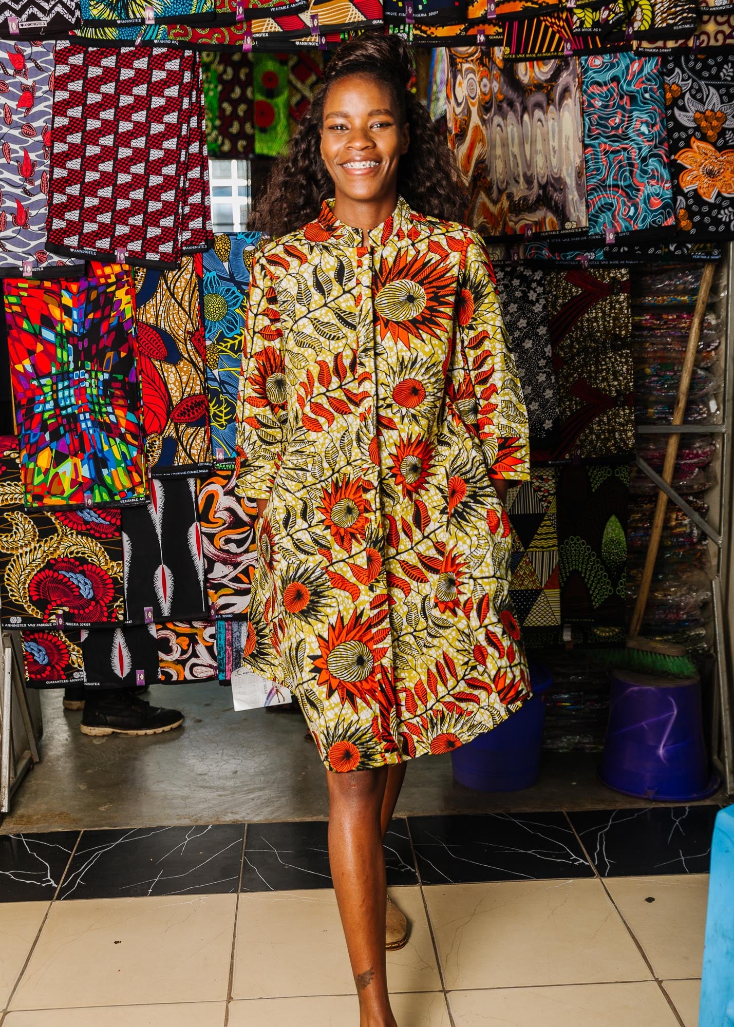
[[[388,768],[327,771],[327,781],[329,862],[360,1000],[360,1027],[397,1027],[384,956],[381,812]]]

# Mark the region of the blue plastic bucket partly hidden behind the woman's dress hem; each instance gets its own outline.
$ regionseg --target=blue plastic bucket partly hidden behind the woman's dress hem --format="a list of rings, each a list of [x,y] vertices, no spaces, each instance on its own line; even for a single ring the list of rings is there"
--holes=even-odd
[[[541,770],[543,724],[542,693],[553,684],[544,667],[530,668],[533,698],[498,724],[451,753],[454,781],[481,792],[519,792],[531,788]]]

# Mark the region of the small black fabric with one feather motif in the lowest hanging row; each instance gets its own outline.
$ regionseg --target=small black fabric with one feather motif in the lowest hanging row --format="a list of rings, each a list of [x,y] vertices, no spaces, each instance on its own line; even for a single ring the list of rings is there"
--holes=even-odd
[[[82,632],[84,685],[132,688],[159,680],[155,624]]]

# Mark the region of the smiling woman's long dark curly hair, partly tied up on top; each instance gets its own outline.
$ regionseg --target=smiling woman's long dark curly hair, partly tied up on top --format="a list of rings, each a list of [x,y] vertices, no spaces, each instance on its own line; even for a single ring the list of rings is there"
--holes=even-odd
[[[419,214],[461,220],[466,211],[464,187],[445,140],[408,88],[413,73],[410,47],[399,36],[365,33],[340,46],[327,65],[324,83],[303,115],[290,151],[276,161],[248,227],[278,238],[313,221],[323,201],[334,195],[334,183],[321,156],[321,128],[329,86],[347,75],[363,75],[387,85],[401,124],[408,125],[410,147],[400,158],[398,193]]]

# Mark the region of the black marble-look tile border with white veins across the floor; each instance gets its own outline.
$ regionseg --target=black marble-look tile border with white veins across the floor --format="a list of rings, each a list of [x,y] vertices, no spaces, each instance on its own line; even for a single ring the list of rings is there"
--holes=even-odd
[[[472,832],[472,822],[475,822],[477,828],[481,826],[486,833],[486,828],[488,824],[493,826],[502,825],[503,822],[510,822],[513,825],[524,822],[533,822],[534,817],[536,821],[544,822],[557,822],[557,826],[560,824],[560,819],[567,823],[570,829],[570,842],[573,837],[574,842],[571,843],[571,848],[574,850],[575,859],[573,866],[568,867],[567,871],[562,874],[557,872],[543,874],[541,873],[544,863],[546,862],[545,857],[540,858],[540,862],[537,862],[539,868],[538,875],[528,872],[516,873],[512,870],[507,870],[506,867],[500,866],[490,867],[485,873],[479,869],[472,869],[471,875],[463,875],[461,873],[454,873],[450,875],[451,881],[454,883],[464,883],[466,881],[497,881],[497,880],[522,880],[522,879],[536,879],[536,880],[551,880],[557,879],[558,877],[591,877],[591,876],[621,876],[623,874],[633,874],[634,876],[652,876],[659,874],[676,874],[676,873],[705,873],[703,869],[703,864],[701,864],[700,854],[695,858],[689,858],[684,853],[684,862],[688,863],[688,866],[680,866],[680,845],[675,848],[671,848],[670,861],[661,859],[661,852],[658,848],[657,851],[651,853],[651,859],[645,862],[645,852],[634,852],[635,861],[637,855],[640,857],[638,862],[634,863],[633,869],[618,869],[614,870],[610,867],[605,867],[599,860],[598,855],[595,854],[596,848],[594,844],[593,835],[593,822],[589,821],[589,817],[607,817],[608,820],[615,821],[619,819],[621,822],[623,817],[628,817],[632,824],[634,822],[639,822],[645,820],[646,814],[649,810],[652,810],[652,816],[649,819],[655,820],[665,820],[670,817],[671,823],[676,819],[676,814],[680,814],[685,809],[700,810],[708,809],[709,807],[715,812],[720,808],[729,805],[728,802],[722,801],[720,803],[704,803],[704,804],[692,804],[689,807],[685,805],[681,806],[663,806],[663,805],[651,805],[646,807],[626,807],[623,809],[610,809],[610,810],[584,810],[578,812],[557,812],[553,813],[549,810],[543,810],[539,813],[534,812],[515,812],[515,813],[449,813],[449,814],[435,814],[436,827],[439,828],[442,825],[448,824],[453,821],[457,827],[461,826],[462,832],[465,839],[468,837],[469,842],[463,841],[460,845],[465,847],[467,844],[471,844],[471,832]],[[701,823],[705,823],[707,819],[713,820],[711,813],[694,813],[694,817]],[[434,816],[399,816],[395,820],[396,830],[400,827],[402,829],[403,825],[406,825],[406,835],[400,830],[399,834],[402,835],[399,844],[389,845],[389,848],[397,849],[397,853],[393,857],[392,861],[389,858],[389,879],[388,883],[390,886],[407,884],[407,885],[429,885],[434,883],[447,884],[449,880],[438,878],[433,879],[431,873],[427,873],[425,869],[421,869],[421,864],[425,863],[426,852],[423,851],[425,847],[425,839],[421,841],[421,830],[425,830],[426,825],[430,825],[430,822],[434,820]],[[682,823],[685,822],[685,817],[682,819]],[[204,825],[199,827],[189,826],[182,827],[180,825],[173,827],[161,827],[161,828],[86,828],[83,831],[51,831],[51,832],[33,832],[33,831],[14,831],[6,832],[5,834],[0,834],[0,905],[4,902],[24,902],[24,901],[51,901],[56,899],[61,899],[63,901],[69,901],[73,899],[83,899],[88,898],[116,898],[116,897],[127,897],[133,893],[150,893],[151,897],[158,895],[173,895],[180,893],[180,889],[176,890],[166,890],[166,887],[170,885],[163,885],[163,890],[153,889],[151,891],[147,890],[149,884],[146,886],[146,890],[141,892],[140,890],[133,891],[130,888],[115,887],[112,884],[99,884],[90,887],[89,890],[86,888],[80,889],[79,887],[74,888],[74,874],[77,873],[78,863],[81,859],[81,853],[94,849],[96,845],[96,838],[101,838],[104,840],[105,837],[118,836],[121,838],[124,835],[139,834],[140,832],[151,832],[151,831],[161,831],[171,833],[173,837],[176,832],[183,832],[184,834],[188,831],[201,831],[206,828],[212,828],[213,832],[219,833],[221,829],[226,829],[228,832],[233,832],[231,835],[234,841],[234,850],[236,850],[236,859],[232,859],[232,870],[231,873],[227,873],[224,881],[209,882],[205,879],[200,879],[196,883],[196,879],[193,876],[194,871],[201,870],[205,877],[211,878],[206,871],[209,866],[207,860],[203,860],[203,866],[199,868],[196,866],[195,861],[193,867],[185,870],[186,877],[189,877],[189,884],[185,885],[185,893],[189,895],[206,895],[212,892],[229,892],[232,893],[236,891],[237,883],[240,881],[240,867],[243,866],[242,870],[242,886],[241,891],[246,893],[250,890],[291,890],[301,887],[331,887],[331,878],[328,876],[328,859],[326,853],[322,850],[316,854],[318,860],[317,863],[317,875],[315,875],[315,880],[318,883],[302,883],[299,880],[298,883],[294,883],[293,873],[290,868],[289,872],[283,872],[277,875],[277,878],[268,882],[261,882],[260,886],[253,886],[251,876],[254,873],[253,867],[249,864],[247,858],[248,851],[248,836],[256,842],[256,835],[258,829],[260,829],[263,834],[269,835],[279,830],[293,834],[297,833],[298,828],[303,828],[304,834],[310,834],[313,837],[326,839],[326,821],[284,821],[284,822],[265,822],[265,823],[251,823],[251,824],[228,824],[228,825]],[[319,825],[316,827],[316,825]],[[711,825],[712,826],[712,825]],[[240,843],[238,836],[242,832],[242,840],[244,843],[244,861],[241,860],[243,855],[243,843]],[[479,832],[481,833],[481,832]],[[235,837],[236,836],[236,837]],[[700,835],[699,835],[700,837]],[[49,842],[49,839],[54,839]],[[8,841],[10,839],[10,841]],[[581,842],[581,847],[578,847],[578,841]],[[394,841],[396,841],[394,839]],[[671,838],[672,841],[677,841],[677,839]],[[710,841],[710,839],[709,839]],[[493,842],[492,842],[493,844]],[[502,843],[498,843],[500,847]],[[237,849],[237,845],[240,848]],[[37,853],[34,854],[34,847],[40,851],[46,851],[46,846],[51,846],[49,851],[57,855],[57,862],[51,869],[51,872],[45,872],[43,861],[39,862]],[[58,847],[58,852],[56,851]],[[517,848],[517,846],[514,846]],[[2,863],[3,849],[6,853],[6,861]],[[23,853],[28,853],[29,859],[26,862],[23,858]],[[72,858],[73,854],[73,858]],[[214,853],[215,857],[220,855],[220,852]],[[294,853],[295,859],[294,864],[301,864],[302,866],[295,867],[295,871],[303,871],[303,867],[306,871],[314,866],[315,854],[311,852],[310,857],[307,853],[299,852]],[[305,854],[305,861],[303,859]],[[664,855],[665,853],[663,853]],[[457,863],[461,865],[463,858],[466,852],[460,852],[460,859]],[[20,862],[16,866],[8,863],[8,857],[11,860],[17,859]],[[533,857],[528,851],[522,853],[522,857],[527,860],[537,860],[538,857]],[[581,859],[583,857],[583,859]],[[695,853],[694,853],[695,857]],[[696,862],[698,859],[698,863]],[[240,862],[237,862],[240,861]],[[46,861],[50,862],[50,861]],[[290,862],[290,861],[288,861]],[[466,861],[468,865],[471,866],[471,861]],[[481,863],[482,861],[477,861]],[[497,861],[496,861],[497,862]],[[391,866],[392,863],[392,866]],[[63,866],[62,866],[63,864]],[[236,864],[236,867],[235,867]],[[319,866],[321,870],[319,871]],[[631,866],[628,864],[627,866]],[[326,868],[326,869],[324,869]],[[571,871],[571,872],[568,872]],[[125,868],[125,872],[129,880],[131,878],[138,878],[137,885],[140,887],[144,882],[149,882],[153,879],[151,877],[151,866],[150,858],[147,861],[141,863],[140,866],[135,865],[135,863]],[[499,875],[499,876],[498,876]],[[310,876],[310,875],[308,875]],[[439,874],[440,877],[440,874]],[[236,878],[236,881],[234,880]],[[47,880],[47,883],[45,883]],[[296,878],[298,880],[298,878]],[[40,883],[39,883],[40,881]],[[136,881],[133,881],[136,885]],[[158,885],[160,887],[160,885]],[[72,890],[73,889],[73,890]],[[80,893],[80,890],[82,893]],[[83,893],[85,892],[85,895]],[[93,895],[94,892],[94,895]]]

